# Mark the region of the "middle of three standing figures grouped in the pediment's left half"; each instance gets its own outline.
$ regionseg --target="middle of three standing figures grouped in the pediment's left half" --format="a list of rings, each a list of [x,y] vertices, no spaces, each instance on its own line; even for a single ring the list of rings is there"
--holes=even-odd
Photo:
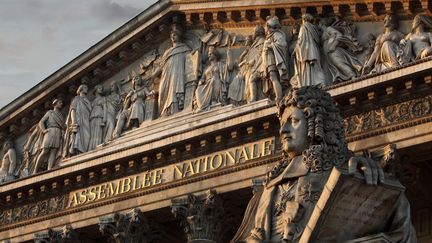
[[[98,84],[94,88],[95,98],[92,101],[90,113],[90,143],[88,150],[93,150],[104,141],[103,130],[107,120],[107,104],[103,94],[103,86]]]

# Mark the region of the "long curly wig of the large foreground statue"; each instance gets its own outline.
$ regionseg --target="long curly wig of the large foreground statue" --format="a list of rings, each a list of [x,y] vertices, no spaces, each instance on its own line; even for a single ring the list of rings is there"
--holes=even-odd
[[[352,156],[345,141],[342,118],[336,102],[329,93],[317,86],[293,88],[278,103],[278,117],[288,107],[303,111],[307,121],[308,149],[303,151],[303,163],[311,172],[322,172],[345,164]],[[292,158],[284,158],[267,175],[273,179],[289,164]]]

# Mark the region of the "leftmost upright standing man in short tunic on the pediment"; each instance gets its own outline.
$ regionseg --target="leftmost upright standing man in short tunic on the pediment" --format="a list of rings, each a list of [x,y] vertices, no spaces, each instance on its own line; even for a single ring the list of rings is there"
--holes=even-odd
[[[36,174],[45,163],[48,163],[47,170],[51,170],[61,158],[62,139],[66,129],[63,115],[60,112],[63,101],[55,99],[52,104],[54,108],[48,111],[38,123],[43,137],[33,167],[33,174]]]

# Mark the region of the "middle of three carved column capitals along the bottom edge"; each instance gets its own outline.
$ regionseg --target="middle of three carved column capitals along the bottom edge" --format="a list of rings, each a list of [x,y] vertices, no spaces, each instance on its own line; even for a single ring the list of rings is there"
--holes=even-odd
[[[141,243],[149,242],[149,224],[139,208],[125,214],[115,213],[99,219],[99,230],[108,236],[109,242]]]

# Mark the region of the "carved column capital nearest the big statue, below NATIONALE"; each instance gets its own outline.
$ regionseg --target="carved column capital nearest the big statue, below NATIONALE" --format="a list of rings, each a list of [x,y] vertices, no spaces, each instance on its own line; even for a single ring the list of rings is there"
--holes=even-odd
[[[223,236],[223,204],[215,190],[172,200],[172,212],[180,218],[188,243],[217,243]]]

